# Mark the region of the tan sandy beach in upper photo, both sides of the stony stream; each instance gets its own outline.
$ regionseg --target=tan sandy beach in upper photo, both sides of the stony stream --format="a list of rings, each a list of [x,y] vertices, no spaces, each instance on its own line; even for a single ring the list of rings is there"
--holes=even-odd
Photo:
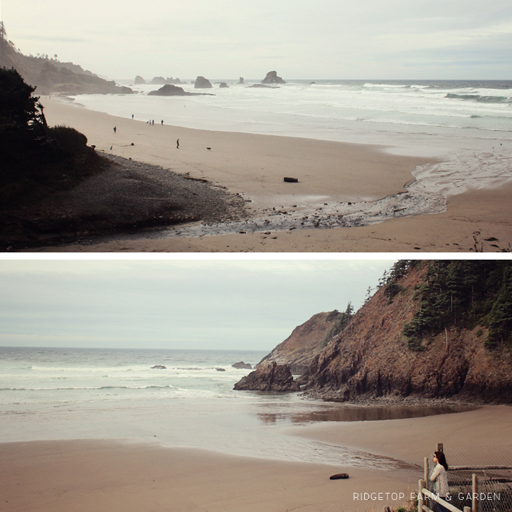
[[[252,213],[275,215],[282,212],[279,214],[282,219],[294,215],[300,220],[301,215],[308,215],[311,223],[324,214],[327,220],[321,225],[336,226],[336,215],[341,215],[338,212],[349,211],[355,204],[364,205],[365,201],[378,201],[395,194],[398,198],[405,196],[402,194],[404,186],[415,179],[412,172],[418,166],[435,163],[435,159],[425,157],[389,154],[379,146],[211,132],[162,126],[158,120],[151,126],[137,119],[93,112],[54,97],[42,97],[41,102],[49,124],[75,127],[86,134],[88,144],[94,144],[98,150],[206,179],[231,193],[240,194]],[[179,149],[176,148],[177,139]],[[299,182],[285,183],[284,176],[298,178]],[[469,252],[474,250],[476,233],[479,250],[499,252],[508,249],[512,242],[509,201],[512,184],[506,180],[494,184],[494,188],[449,196],[446,210],[433,215],[400,217],[402,207],[398,203],[375,206],[382,211],[372,215],[380,214],[389,220],[357,226],[356,219],[355,227],[350,228],[299,229],[301,225],[297,222],[290,228],[276,228],[270,224],[270,229],[250,233],[242,225],[234,233],[215,236],[193,235],[193,231],[187,233],[184,230],[178,236],[174,233],[145,233],[28,250]],[[166,238],[169,235],[171,238]]]

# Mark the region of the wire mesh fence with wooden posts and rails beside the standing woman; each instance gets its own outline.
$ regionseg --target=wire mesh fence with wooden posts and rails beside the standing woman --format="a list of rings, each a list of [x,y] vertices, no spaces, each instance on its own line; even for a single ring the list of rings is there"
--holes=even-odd
[[[512,512],[512,444],[491,447],[444,447],[448,462],[448,485],[453,506],[477,512]],[[434,469],[432,455],[428,474]],[[462,467],[461,467],[462,466]],[[474,496],[472,474],[477,476]],[[432,482],[429,481],[429,490]],[[476,508],[474,507],[476,503]]]

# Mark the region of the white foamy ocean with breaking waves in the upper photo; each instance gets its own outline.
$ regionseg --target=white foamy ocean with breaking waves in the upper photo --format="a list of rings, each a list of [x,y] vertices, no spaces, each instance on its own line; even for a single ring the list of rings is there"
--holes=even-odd
[[[406,154],[492,149],[512,142],[512,80],[294,80],[254,88],[210,80],[210,95],[80,95],[88,109],[180,127],[384,144]],[[429,143],[425,147],[425,137]],[[507,146],[510,149],[511,146]]]

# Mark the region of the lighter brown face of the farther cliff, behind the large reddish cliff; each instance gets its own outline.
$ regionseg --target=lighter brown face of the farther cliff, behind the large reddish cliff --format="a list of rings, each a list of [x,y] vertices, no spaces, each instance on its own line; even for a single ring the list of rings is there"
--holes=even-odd
[[[275,361],[279,365],[288,365],[296,375],[303,373],[324,348],[324,340],[340,315],[341,313],[331,311],[311,316],[304,324],[297,326],[292,334],[279,343],[268,356],[265,356],[262,362]]]

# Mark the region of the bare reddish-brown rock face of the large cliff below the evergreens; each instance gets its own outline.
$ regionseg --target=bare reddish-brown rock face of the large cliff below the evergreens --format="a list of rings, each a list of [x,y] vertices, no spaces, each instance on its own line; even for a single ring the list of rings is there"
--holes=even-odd
[[[314,361],[300,383],[306,395],[346,401],[381,397],[454,398],[512,403],[511,353],[484,347],[486,329],[442,330],[411,351],[403,326],[419,308],[428,262],[409,269],[388,299],[381,288]]]

